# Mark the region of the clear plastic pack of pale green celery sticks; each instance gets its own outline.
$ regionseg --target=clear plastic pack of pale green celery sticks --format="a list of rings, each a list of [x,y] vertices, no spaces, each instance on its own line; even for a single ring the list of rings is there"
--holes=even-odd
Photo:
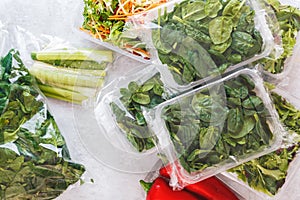
[[[105,84],[113,52],[81,46],[51,38],[42,50],[31,52],[34,62],[30,73],[47,97],[81,104],[95,98],[96,91]]]

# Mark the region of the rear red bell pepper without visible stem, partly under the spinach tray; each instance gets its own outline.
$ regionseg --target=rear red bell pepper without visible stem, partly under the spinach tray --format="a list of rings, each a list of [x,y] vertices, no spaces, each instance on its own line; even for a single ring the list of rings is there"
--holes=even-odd
[[[161,168],[159,173],[163,177],[170,178],[169,172],[171,170],[171,166],[167,165]],[[209,200],[238,200],[236,195],[215,176],[187,185],[184,189]]]

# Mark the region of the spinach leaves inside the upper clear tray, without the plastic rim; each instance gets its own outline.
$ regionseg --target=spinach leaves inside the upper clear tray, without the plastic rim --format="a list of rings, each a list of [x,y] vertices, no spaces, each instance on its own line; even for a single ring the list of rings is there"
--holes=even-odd
[[[184,0],[154,21],[152,40],[175,81],[188,84],[261,52],[254,14],[245,0]]]

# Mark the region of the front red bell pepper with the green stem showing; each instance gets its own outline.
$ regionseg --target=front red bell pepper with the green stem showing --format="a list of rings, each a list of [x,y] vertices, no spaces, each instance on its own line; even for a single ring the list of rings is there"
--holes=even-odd
[[[174,191],[168,183],[161,177],[155,179],[153,183],[140,181],[143,188],[148,192],[146,200],[201,200],[187,191]]]

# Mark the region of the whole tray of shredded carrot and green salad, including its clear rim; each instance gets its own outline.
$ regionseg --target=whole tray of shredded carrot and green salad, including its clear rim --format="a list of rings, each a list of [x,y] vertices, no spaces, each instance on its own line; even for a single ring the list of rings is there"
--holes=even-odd
[[[149,63],[151,55],[146,44],[134,30],[127,28],[126,19],[165,2],[167,1],[81,1],[75,11],[73,26],[87,40],[140,62]]]

